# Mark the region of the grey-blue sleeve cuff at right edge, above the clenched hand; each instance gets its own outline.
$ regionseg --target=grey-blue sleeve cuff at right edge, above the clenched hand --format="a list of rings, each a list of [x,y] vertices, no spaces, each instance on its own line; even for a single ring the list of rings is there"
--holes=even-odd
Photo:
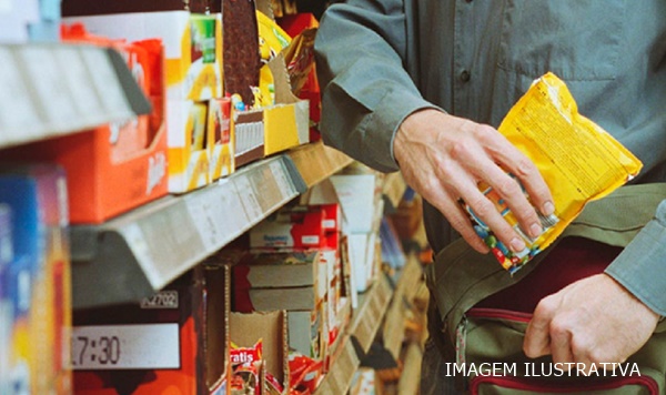
[[[659,315],[666,315],[666,201],[606,273]]]

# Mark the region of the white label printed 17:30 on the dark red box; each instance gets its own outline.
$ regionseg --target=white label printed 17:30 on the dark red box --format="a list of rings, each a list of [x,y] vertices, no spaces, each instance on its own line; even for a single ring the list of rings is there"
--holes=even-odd
[[[75,326],[72,368],[180,368],[178,324]]]

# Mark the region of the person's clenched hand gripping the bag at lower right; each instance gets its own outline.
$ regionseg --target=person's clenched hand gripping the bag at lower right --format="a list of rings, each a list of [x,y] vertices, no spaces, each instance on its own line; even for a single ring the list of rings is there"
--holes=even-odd
[[[658,315],[607,274],[544,297],[527,326],[523,351],[555,363],[623,363],[649,338]]]

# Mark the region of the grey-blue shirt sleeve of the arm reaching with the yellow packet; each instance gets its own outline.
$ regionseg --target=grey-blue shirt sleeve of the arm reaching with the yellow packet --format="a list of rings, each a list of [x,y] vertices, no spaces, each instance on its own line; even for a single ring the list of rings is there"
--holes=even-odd
[[[402,121],[432,108],[404,69],[406,19],[398,0],[331,6],[315,40],[324,142],[380,171],[396,171]]]

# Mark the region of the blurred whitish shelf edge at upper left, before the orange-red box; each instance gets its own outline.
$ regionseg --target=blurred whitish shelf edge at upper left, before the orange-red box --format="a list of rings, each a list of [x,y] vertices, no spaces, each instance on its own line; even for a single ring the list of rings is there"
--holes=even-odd
[[[0,148],[128,120],[151,110],[111,49],[0,44]]]

